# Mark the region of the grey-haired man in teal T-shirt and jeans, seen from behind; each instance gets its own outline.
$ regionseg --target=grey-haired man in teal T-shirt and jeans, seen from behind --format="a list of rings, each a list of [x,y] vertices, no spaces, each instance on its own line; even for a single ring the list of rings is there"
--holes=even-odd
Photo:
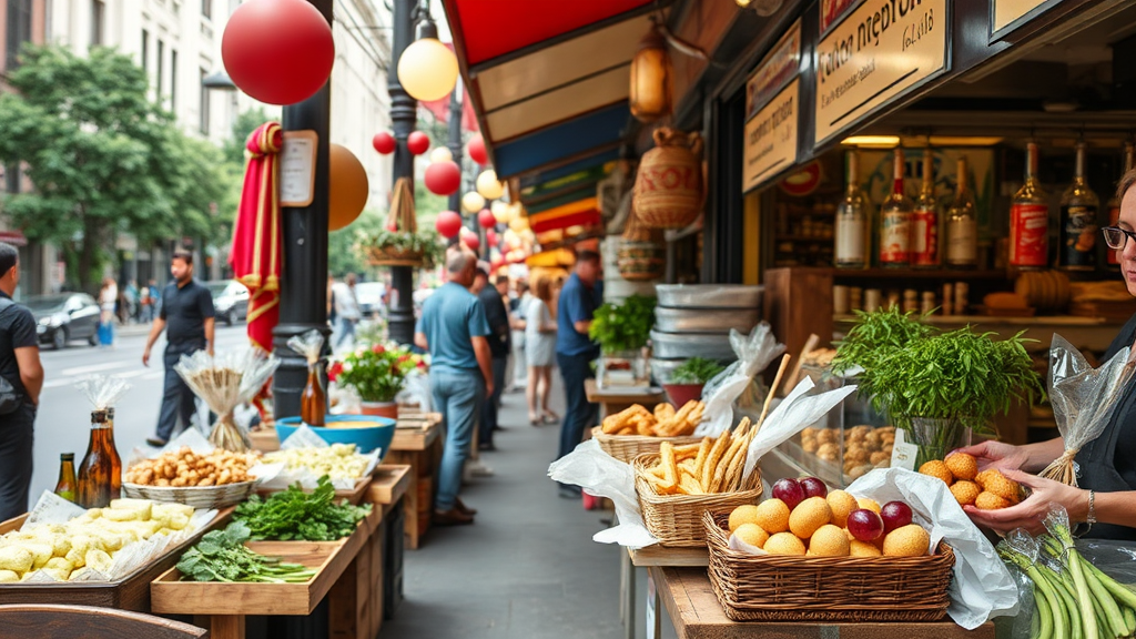
[[[450,281],[434,291],[415,329],[415,343],[429,350],[429,385],[434,408],[445,422],[445,449],[437,475],[434,523],[474,523],[477,513],[467,508],[458,492],[477,426],[482,404],[493,393],[490,325],[485,307],[469,292],[477,256],[460,249],[446,252]]]

